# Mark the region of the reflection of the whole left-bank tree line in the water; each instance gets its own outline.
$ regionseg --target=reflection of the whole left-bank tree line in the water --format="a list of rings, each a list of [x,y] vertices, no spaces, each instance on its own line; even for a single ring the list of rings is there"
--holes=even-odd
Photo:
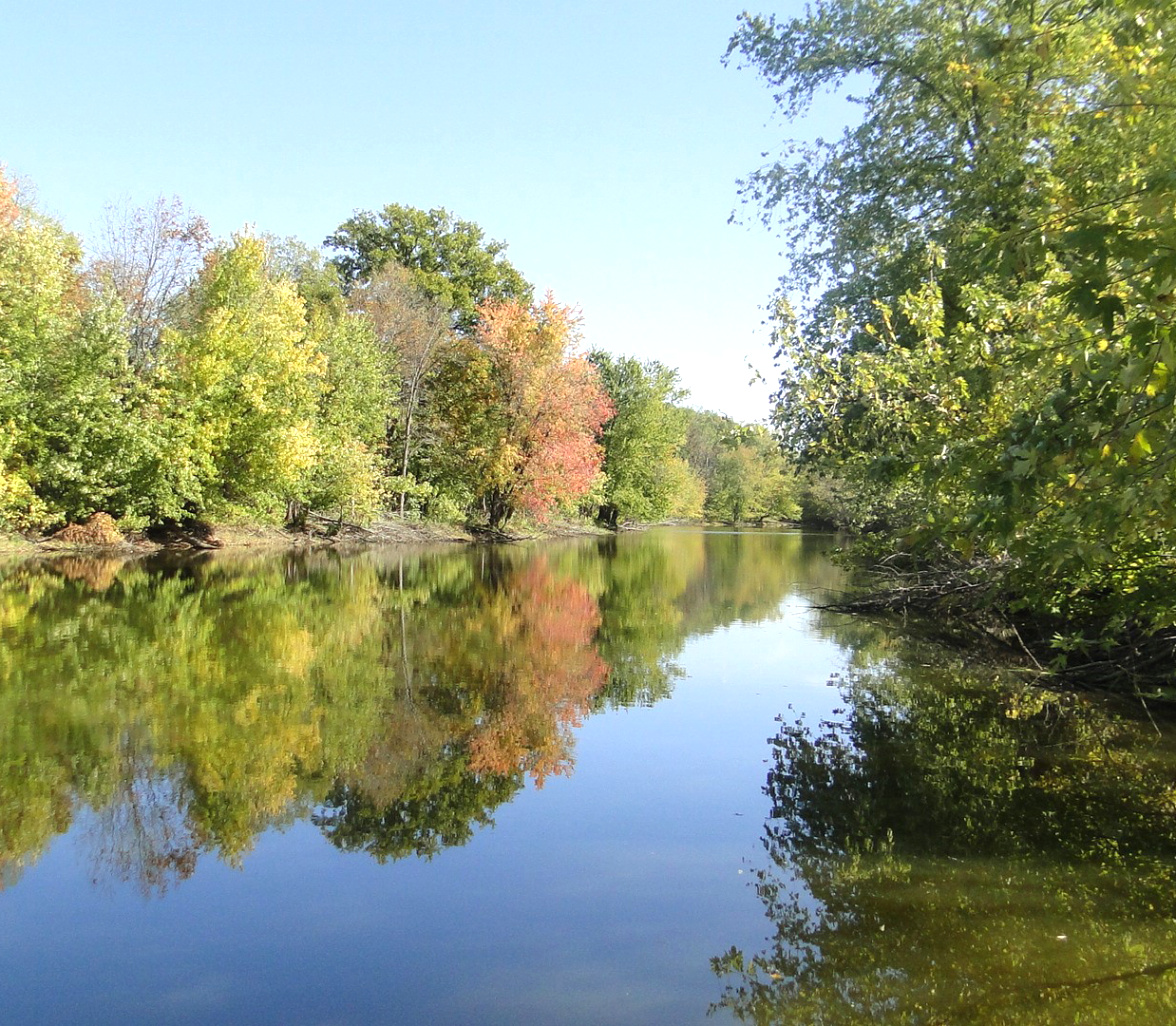
[[[586,715],[668,695],[687,637],[773,615],[821,547],[664,532],[0,566],[0,884],[81,810],[94,877],[145,893],[303,817],[380,860],[465,844],[570,772]]]

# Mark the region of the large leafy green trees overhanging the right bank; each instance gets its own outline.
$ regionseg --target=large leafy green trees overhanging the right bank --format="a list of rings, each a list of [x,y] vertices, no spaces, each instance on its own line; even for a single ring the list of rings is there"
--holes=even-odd
[[[1174,38],[1141,0],[818,0],[728,51],[786,121],[860,112],[743,184],[790,240],[787,451],[895,605],[1136,684],[1176,645]]]

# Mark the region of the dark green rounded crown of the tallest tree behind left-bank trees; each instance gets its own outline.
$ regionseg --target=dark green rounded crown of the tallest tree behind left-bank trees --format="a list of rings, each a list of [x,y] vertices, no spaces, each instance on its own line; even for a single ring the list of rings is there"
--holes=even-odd
[[[448,211],[421,211],[388,204],[379,213],[348,218],[323,241],[349,286],[369,280],[388,264],[407,268],[413,281],[453,315],[454,327],[470,333],[479,304],[527,304],[532,287],[507,261],[506,244],[486,240],[473,221]]]

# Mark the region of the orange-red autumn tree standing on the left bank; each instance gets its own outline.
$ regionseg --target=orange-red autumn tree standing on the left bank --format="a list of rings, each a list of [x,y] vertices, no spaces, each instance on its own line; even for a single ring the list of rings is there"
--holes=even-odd
[[[446,472],[468,487],[492,528],[517,509],[544,518],[596,482],[596,435],[612,407],[574,352],[579,320],[550,294],[536,306],[489,302],[436,389]]]

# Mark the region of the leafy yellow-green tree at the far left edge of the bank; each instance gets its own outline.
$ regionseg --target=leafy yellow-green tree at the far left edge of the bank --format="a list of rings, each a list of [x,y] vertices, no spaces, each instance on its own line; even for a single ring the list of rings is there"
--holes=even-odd
[[[116,299],[83,287],[78,240],[0,178],[0,522],[132,512],[149,487],[149,397]]]

